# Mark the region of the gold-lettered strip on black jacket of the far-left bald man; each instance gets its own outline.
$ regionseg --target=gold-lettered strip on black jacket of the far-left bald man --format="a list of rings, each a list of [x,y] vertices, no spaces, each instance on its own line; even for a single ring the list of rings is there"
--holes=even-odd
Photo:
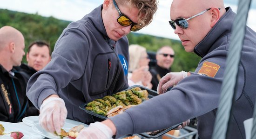
[[[0,77],[0,92],[1,92],[1,96],[4,100],[4,105],[6,107],[7,110],[7,114],[9,114],[9,119],[13,119],[14,117],[14,111],[13,111],[13,107],[12,107],[12,101],[10,98],[10,93],[8,93],[6,86],[3,82],[3,80]]]

